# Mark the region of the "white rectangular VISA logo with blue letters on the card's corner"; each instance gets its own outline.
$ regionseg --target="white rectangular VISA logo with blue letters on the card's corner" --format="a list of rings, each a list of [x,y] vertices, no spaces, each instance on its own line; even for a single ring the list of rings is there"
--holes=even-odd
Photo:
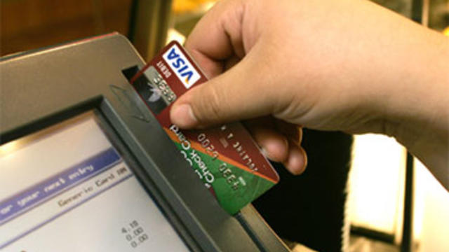
[[[184,84],[185,88],[189,89],[198,81],[201,76],[198,71],[194,69],[189,60],[182,53],[180,48],[176,44],[168,49],[163,55],[163,59],[167,62],[170,69],[175,73],[177,78],[179,78]]]

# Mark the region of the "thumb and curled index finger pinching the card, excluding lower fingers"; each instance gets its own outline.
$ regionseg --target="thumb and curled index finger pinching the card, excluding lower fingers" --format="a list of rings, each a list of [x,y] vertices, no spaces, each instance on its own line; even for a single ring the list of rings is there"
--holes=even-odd
[[[179,127],[207,127],[272,113],[276,99],[270,97],[271,90],[262,87],[268,80],[261,74],[262,60],[256,60],[264,54],[262,50],[255,52],[255,39],[243,45],[245,9],[244,1],[221,1],[187,38],[185,47],[212,80],[192,88],[173,104],[170,118]],[[247,31],[246,36],[254,30]]]

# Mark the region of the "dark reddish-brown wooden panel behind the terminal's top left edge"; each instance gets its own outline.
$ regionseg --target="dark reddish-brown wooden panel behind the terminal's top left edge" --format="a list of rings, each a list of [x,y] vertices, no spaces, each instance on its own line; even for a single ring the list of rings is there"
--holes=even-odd
[[[110,31],[128,33],[132,0],[0,0],[0,55]]]

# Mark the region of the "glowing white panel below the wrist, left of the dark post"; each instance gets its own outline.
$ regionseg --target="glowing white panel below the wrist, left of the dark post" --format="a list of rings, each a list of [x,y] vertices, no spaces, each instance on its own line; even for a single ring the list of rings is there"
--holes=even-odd
[[[352,158],[351,225],[396,234],[402,228],[406,150],[392,138],[366,134],[354,137]]]

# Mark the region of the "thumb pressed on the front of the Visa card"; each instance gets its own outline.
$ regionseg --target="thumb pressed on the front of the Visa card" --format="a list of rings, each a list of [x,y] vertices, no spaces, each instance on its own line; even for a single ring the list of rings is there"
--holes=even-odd
[[[248,54],[222,75],[183,94],[171,108],[172,123],[191,129],[272,113],[275,94],[255,63]]]

